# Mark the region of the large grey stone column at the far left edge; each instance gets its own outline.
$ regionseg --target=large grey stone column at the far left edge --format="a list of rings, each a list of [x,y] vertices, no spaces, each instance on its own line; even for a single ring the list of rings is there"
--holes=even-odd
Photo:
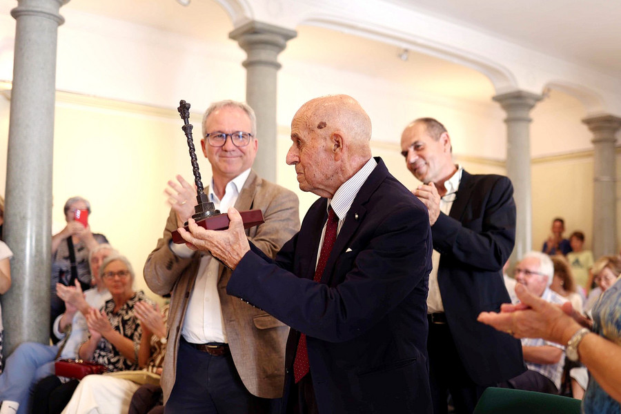
[[[18,0],[11,90],[6,243],[12,286],[2,296],[3,352],[47,344],[50,319],[52,145],[60,7],[68,0]]]

